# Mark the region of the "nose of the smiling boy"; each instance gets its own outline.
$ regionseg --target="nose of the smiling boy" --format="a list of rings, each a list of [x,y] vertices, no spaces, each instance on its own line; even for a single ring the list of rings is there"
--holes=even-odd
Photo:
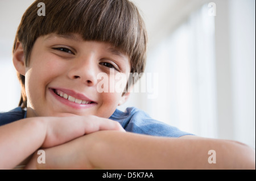
[[[97,64],[93,57],[77,58],[71,62],[68,78],[81,81],[87,86],[97,83]]]

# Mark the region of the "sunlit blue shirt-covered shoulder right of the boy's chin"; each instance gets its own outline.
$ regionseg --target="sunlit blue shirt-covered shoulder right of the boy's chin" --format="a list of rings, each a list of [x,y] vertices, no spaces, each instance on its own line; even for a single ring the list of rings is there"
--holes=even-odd
[[[135,107],[129,107],[125,112],[116,110],[110,119],[118,121],[128,132],[167,137],[181,137],[190,134],[152,119],[148,113]]]

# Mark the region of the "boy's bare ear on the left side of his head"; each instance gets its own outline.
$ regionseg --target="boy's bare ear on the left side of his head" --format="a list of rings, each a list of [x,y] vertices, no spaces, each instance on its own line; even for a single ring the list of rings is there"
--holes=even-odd
[[[22,43],[16,41],[15,49],[13,52],[13,64],[18,73],[25,75],[26,73],[26,65],[24,58],[24,50],[22,47]]]

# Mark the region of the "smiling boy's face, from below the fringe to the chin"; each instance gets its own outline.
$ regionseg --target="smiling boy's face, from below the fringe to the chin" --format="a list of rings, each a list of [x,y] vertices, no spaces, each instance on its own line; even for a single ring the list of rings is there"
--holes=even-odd
[[[125,99],[113,91],[130,73],[129,57],[81,36],[50,34],[39,37],[25,67],[27,116],[96,115],[110,117]],[[111,68],[111,69],[110,69]],[[119,90],[121,90],[119,89]],[[102,92],[104,90],[104,92]]]

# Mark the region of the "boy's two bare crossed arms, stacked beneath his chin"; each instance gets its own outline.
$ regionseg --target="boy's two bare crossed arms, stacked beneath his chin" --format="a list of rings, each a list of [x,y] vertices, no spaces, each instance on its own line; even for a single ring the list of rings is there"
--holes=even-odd
[[[21,128],[19,121],[0,127],[1,169],[12,169],[39,148],[46,152],[46,163],[38,163],[34,153],[26,169],[255,169],[255,151],[235,141],[127,133],[114,121],[98,117],[51,119],[51,123],[21,120],[32,122]],[[20,131],[3,137],[2,131],[8,134],[15,126]],[[30,136],[23,137],[26,132]],[[2,142],[3,138],[9,141]],[[216,163],[208,162],[209,150],[216,151]]]

